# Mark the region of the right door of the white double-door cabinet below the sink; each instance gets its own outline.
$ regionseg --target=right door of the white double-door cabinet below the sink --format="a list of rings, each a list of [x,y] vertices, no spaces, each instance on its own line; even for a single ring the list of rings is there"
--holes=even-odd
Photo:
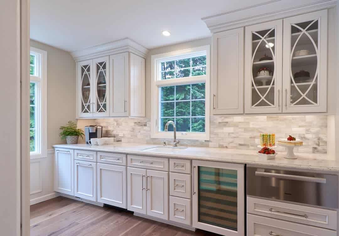
[[[168,220],[168,172],[147,170],[147,215]]]

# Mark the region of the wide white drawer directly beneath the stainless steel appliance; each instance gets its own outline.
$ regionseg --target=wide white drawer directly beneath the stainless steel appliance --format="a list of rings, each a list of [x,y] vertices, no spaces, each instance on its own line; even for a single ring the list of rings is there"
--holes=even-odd
[[[247,197],[247,213],[337,230],[337,211]]]

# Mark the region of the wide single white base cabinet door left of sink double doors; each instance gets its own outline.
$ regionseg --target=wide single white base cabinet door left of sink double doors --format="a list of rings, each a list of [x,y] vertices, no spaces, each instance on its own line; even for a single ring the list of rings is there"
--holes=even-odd
[[[126,166],[97,163],[98,202],[127,209]]]

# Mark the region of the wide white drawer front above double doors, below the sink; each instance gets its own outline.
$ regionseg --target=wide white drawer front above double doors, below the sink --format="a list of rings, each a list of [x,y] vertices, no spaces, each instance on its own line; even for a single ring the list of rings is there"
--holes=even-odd
[[[127,165],[157,171],[168,171],[168,158],[127,155]]]

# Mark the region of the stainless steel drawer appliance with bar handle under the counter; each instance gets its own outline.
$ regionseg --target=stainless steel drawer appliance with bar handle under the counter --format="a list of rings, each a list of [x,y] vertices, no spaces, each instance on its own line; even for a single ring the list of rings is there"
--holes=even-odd
[[[338,175],[247,166],[248,196],[338,208]]]

